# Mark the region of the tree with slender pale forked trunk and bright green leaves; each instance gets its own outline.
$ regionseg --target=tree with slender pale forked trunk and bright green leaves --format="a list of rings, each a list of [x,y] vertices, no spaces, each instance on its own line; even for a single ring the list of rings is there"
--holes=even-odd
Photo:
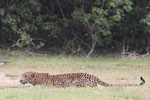
[[[110,28],[120,21],[125,11],[132,9],[129,0],[96,0],[92,7],[90,4],[88,9],[82,4],[82,8],[76,8],[73,13],[73,18],[87,28],[86,34],[90,36],[90,51],[86,57],[91,55],[100,37],[110,35]]]

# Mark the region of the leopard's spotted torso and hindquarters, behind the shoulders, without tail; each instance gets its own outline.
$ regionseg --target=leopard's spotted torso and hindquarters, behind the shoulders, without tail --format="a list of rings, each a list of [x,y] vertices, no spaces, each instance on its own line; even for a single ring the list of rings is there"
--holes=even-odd
[[[86,73],[51,75],[51,80],[53,80],[53,85],[57,87],[94,87],[99,82],[97,77]]]

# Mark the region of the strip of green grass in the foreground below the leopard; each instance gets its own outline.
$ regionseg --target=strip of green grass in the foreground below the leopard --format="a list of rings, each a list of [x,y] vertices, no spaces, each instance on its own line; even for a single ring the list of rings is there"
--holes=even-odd
[[[115,91],[114,91],[115,90]],[[2,90],[1,100],[140,100],[136,94],[113,88],[46,88]]]

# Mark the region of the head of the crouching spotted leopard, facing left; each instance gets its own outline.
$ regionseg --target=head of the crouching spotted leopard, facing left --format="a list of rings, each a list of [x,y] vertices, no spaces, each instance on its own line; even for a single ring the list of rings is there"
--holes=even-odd
[[[20,79],[20,83],[21,84],[33,84],[35,85],[35,72],[25,72],[24,74],[22,74],[21,79]]]

